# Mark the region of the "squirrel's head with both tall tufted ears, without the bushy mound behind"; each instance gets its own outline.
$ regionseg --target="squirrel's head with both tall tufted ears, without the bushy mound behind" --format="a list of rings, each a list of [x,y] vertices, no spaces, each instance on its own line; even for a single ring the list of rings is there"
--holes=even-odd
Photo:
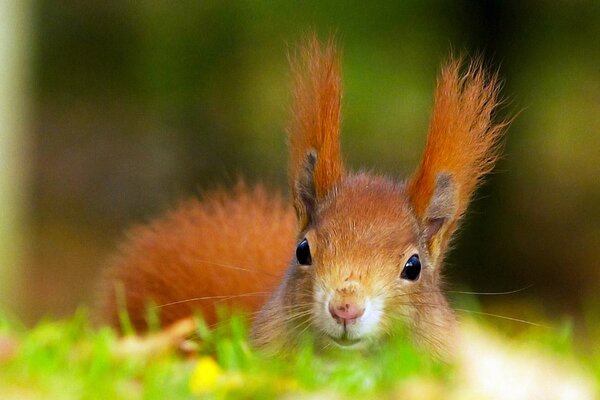
[[[404,323],[416,341],[446,354],[455,319],[440,288],[443,258],[498,155],[506,123],[492,120],[496,77],[480,62],[465,72],[461,60],[442,68],[421,163],[394,182],[346,172],[333,41],[310,37],[291,64],[289,180],[299,234],[278,292],[284,341],[310,330],[325,344],[359,347]]]

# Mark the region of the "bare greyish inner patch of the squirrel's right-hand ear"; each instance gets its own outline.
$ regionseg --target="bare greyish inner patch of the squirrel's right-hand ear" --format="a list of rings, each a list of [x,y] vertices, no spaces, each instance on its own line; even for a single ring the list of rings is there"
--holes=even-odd
[[[425,213],[425,237],[427,241],[449,221],[454,220],[457,209],[456,185],[452,175],[441,172],[436,176],[433,195]]]

